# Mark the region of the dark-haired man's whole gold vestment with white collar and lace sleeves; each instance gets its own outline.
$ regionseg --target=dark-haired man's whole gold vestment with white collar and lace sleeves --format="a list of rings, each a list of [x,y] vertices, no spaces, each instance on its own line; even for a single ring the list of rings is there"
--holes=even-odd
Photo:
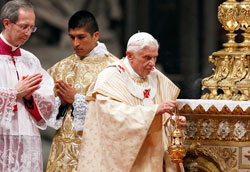
[[[77,91],[72,106],[66,109],[65,116],[58,118],[60,99],[56,97],[57,108],[52,114],[49,125],[58,129],[48,159],[47,172],[76,171],[78,154],[81,143],[82,128],[85,118],[86,92],[106,66],[116,61],[103,43],[99,43],[88,56],[80,59],[76,54],[71,55],[55,64],[48,70],[54,81],[63,80],[72,84]]]

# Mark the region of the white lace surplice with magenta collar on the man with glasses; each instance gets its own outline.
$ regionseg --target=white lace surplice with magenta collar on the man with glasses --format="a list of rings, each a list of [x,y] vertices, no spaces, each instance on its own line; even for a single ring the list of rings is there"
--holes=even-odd
[[[14,51],[13,51],[14,49]],[[15,86],[23,76],[41,73],[41,88],[32,96],[37,108],[37,121],[17,99]],[[41,138],[38,128],[46,128],[54,106],[54,83],[30,52],[9,45],[0,38],[0,171],[42,172]]]

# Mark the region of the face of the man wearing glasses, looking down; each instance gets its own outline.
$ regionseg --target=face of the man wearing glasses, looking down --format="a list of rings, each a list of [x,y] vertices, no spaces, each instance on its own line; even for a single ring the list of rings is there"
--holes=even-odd
[[[9,19],[3,20],[5,39],[13,46],[23,45],[36,30],[35,13],[31,9],[20,8],[18,20],[12,23]]]

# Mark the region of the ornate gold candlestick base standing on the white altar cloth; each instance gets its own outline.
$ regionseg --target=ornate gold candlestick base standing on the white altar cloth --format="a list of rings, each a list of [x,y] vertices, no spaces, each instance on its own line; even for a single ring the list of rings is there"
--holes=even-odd
[[[218,7],[218,20],[228,31],[224,49],[212,53],[213,74],[202,80],[202,99],[250,100],[250,0],[227,0]],[[234,32],[241,29],[241,43]]]

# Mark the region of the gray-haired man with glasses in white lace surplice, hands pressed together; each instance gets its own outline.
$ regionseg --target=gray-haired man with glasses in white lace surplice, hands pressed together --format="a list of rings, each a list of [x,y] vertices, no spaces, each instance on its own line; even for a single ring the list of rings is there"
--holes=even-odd
[[[43,171],[38,128],[54,107],[54,82],[32,53],[19,48],[36,31],[34,7],[8,1],[1,10],[0,171]]]

